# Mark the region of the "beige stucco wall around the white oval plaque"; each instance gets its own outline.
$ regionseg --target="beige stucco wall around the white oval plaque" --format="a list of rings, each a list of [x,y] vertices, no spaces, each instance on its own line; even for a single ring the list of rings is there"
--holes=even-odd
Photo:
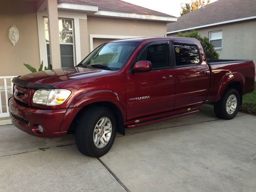
[[[2,1],[0,6],[0,76],[29,73],[23,63],[39,68],[36,4],[32,1]],[[16,25],[19,40],[12,46],[9,28]]]

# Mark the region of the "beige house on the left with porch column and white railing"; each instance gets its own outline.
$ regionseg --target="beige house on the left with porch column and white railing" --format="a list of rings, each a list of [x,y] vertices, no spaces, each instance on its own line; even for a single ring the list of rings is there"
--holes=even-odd
[[[13,76],[38,69],[76,66],[105,41],[165,36],[177,18],[121,0],[8,0],[0,6],[0,118]]]

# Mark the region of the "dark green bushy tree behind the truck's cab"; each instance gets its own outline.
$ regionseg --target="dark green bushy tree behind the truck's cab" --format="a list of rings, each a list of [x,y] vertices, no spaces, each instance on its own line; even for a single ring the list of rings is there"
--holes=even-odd
[[[201,37],[196,30],[191,30],[190,32],[178,33],[179,37],[191,37],[196,38],[200,41],[200,44],[203,47],[204,53],[207,59],[219,59],[219,54],[214,50],[214,45],[209,42],[207,37]]]

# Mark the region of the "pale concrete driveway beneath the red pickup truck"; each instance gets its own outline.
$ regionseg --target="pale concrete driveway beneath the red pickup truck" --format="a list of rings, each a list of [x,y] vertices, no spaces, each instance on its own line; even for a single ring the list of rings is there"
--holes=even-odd
[[[201,113],[126,130],[96,159],[74,136],[0,126],[0,191],[255,191],[256,117]]]

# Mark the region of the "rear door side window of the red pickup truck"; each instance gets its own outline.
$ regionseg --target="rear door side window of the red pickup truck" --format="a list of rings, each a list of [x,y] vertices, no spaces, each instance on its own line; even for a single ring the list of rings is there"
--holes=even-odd
[[[197,46],[174,45],[176,66],[196,65],[200,62]]]

